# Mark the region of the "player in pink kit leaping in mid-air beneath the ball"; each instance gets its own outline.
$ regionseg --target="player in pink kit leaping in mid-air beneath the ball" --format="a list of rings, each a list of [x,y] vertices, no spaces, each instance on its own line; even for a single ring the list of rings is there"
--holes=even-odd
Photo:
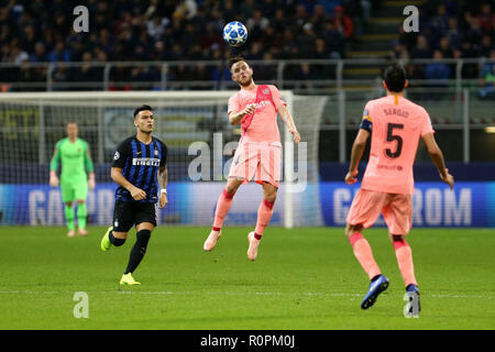
[[[253,176],[263,185],[263,201],[257,209],[256,228],[248,234],[250,243],[248,258],[254,261],[263,231],[268,224],[280,180],[282,143],[277,127],[277,113],[299,143],[293,117],[275,86],[258,86],[253,81],[253,69],[242,57],[229,61],[232,80],[241,90],[230,97],[228,117],[232,125],[241,123],[242,136],[230,168],[227,186],[220,195],[215,212],[215,222],[204,250],[215,249],[222,235],[223,219],[230,210],[238,188],[249,183]]]

